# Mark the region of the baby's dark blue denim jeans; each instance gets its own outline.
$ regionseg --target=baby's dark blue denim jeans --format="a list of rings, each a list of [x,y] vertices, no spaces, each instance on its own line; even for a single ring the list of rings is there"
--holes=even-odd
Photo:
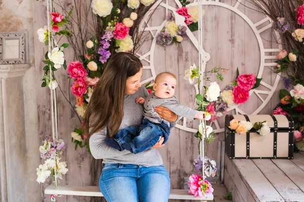
[[[120,130],[115,138],[106,139],[105,143],[120,151],[127,149],[137,154],[154,146],[160,137],[164,137],[163,144],[166,143],[169,135],[170,127],[164,121],[153,123],[143,119],[140,126],[130,126]]]

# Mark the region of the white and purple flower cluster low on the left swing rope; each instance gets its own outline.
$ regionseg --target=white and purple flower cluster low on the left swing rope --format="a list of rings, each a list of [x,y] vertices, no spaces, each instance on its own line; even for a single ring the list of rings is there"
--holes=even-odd
[[[58,154],[62,154],[66,145],[62,139],[44,140],[44,144],[39,147],[40,156],[43,159],[47,159],[44,164],[39,165],[36,169],[37,179],[39,184],[44,183],[45,180],[51,176],[53,178],[54,186],[57,188],[56,178],[62,179],[62,175],[65,175],[68,169],[66,168],[66,162],[59,162],[60,158]]]

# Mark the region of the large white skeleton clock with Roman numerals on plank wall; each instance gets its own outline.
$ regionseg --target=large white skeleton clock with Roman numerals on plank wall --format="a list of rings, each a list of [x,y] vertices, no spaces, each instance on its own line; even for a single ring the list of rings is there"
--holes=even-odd
[[[159,2],[162,2],[162,3],[159,4]],[[164,2],[166,2],[166,3],[164,3]],[[166,0],[164,2],[162,0],[159,0],[154,5],[154,7],[151,8],[151,10],[156,9],[156,7],[163,7],[163,8],[166,9],[166,16],[168,16],[169,11],[171,11],[175,14],[176,24],[186,26],[185,23],[183,22],[184,18],[175,13],[176,8],[173,8],[172,6],[170,6],[169,3],[168,3],[168,0]],[[178,6],[178,8],[182,7],[182,5],[180,4],[180,2],[178,0],[174,0],[174,2]],[[239,15],[242,19],[244,19],[244,21],[250,26],[250,28],[252,29],[252,31],[255,34],[255,37],[256,37],[257,42],[258,42],[259,50],[260,50],[260,64],[259,64],[258,74],[256,75],[256,77],[257,78],[262,78],[263,70],[264,70],[265,67],[267,68],[267,67],[272,67],[272,66],[277,65],[276,63],[266,62],[265,60],[276,60],[276,56],[281,51],[282,45],[279,45],[278,48],[264,48],[264,45],[263,45],[262,38],[261,38],[260,34],[262,32],[264,32],[265,30],[271,29],[272,20],[268,16],[265,15],[265,17],[262,20],[260,20],[256,23],[253,23],[246,14],[244,14],[242,11],[240,11],[238,9],[242,2],[244,3],[245,1],[244,0],[238,0],[238,1],[236,1],[236,3],[234,5],[229,5],[229,4],[226,4],[226,3],[219,2],[219,0],[215,0],[215,1],[203,1],[202,5],[203,6],[218,6],[218,7],[222,7],[222,8],[231,10],[232,12]],[[195,0],[194,3],[188,4],[187,7],[188,6],[189,7],[190,6],[198,6],[198,3]],[[208,12],[208,11],[206,11],[206,12]],[[148,64],[148,65],[145,65],[143,68],[144,69],[149,69],[151,71],[151,77],[143,80],[141,82],[142,84],[144,84],[146,82],[149,82],[149,81],[153,81],[156,77],[156,72],[155,72],[155,67],[154,67],[154,60],[156,60],[154,58],[156,39],[157,39],[158,33],[163,29],[163,27],[164,27],[164,25],[166,24],[167,21],[164,20],[162,22],[162,24],[159,25],[159,26],[149,26],[148,23],[146,23],[147,19],[143,22],[144,22],[144,24],[146,24],[146,27],[145,27],[144,31],[149,31],[150,34],[154,37],[154,39],[151,43],[150,49],[146,53],[144,53],[142,55],[140,55],[138,53],[136,54],[137,56],[140,57],[140,60],[145,61],[145,64]],[[260,27],[262,24],[265,24],[265,23],[267,23],[267,25],[265,25],[264,27],[259,28],[259,29],[257,28],[257,27]],[[189,28],[187,28],[186,33],[187,33],[188,38],[192,41],[194,47],[198,51],[199,50],[198,39],[189,30]],[[275,37],[278,40],[278,44],[281,44],[280,37],[279,37],[279,34],[277,32],[275,32]],[[201,48],[202,48],[202,52],[205,52],[204,48],[203,47],[201,47]],[[215,54],[215,53],[213,53],[213,54]],[[212,57],[212,53],[209,54],[209,53],[205,52],[203,54],[203,57],[204,57],[204,59],[203,59],[204,63],[203,63],[203,67],[202,67],[203,72],[206,68],[206,62],[208,62],[209,59],[210,59],[210,55]],[[252,95],[253,93],[255,93],[257,95],[257,97],[262,102],[262,104],[257,109],[254,110],[254,112],[252,113],[253,115],[258,114],[268,104],[268,102],[270,101],[272,95],[274,94],[274,92],[277,88],[279,80],[280,80],[280,75],[278,74],[275,78],[275,81],[274,81],[273,85],[268,84],[268,83],[264,82],[263,80],[260,82],[260,85],[267,88],[267,90],[259,90],[259,89],[255,88],[255,89],[252,89],[252,90],[249,91],[249,95]],[[195,88],[198,92],[197,84],[195,85]],[[266,97],[262,97],[261,94],[264,94],[264,96],[266,96]],[[233,111],[235,114],[245,114],[245,112],[243,112],[241,109],[239,109],[238,105],[228,108],[227,111]],[[221,128],[219,126],[217,120],[214,122],[214,124],[215,124],[215,127],[213,127],[213,129],[216,133],[224,131],[224,128]],[[183,118],[183,124],[182,125],[177,124],[176,127],[179,128],[179,129],[185,130],[185,131],[193,132],[193,133],[197,132],[197,128],[189,128],[189,127],[186,126],[186,118]]]

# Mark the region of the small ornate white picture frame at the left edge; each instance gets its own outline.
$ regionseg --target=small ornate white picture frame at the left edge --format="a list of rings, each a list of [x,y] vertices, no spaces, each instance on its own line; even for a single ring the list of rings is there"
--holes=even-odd
[[[0,64],[25,61],[25,33],[0,33]]]

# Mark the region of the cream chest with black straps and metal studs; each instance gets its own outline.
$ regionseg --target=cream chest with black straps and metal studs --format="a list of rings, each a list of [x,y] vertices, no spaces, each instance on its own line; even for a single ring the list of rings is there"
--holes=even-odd
[[[261,136],[253,130],[246,134],[230,129],[230,121],[267,121],[271,132]],[[293,159],[294,122],[289,115],[226,115],[225,152],[230,159]]]

